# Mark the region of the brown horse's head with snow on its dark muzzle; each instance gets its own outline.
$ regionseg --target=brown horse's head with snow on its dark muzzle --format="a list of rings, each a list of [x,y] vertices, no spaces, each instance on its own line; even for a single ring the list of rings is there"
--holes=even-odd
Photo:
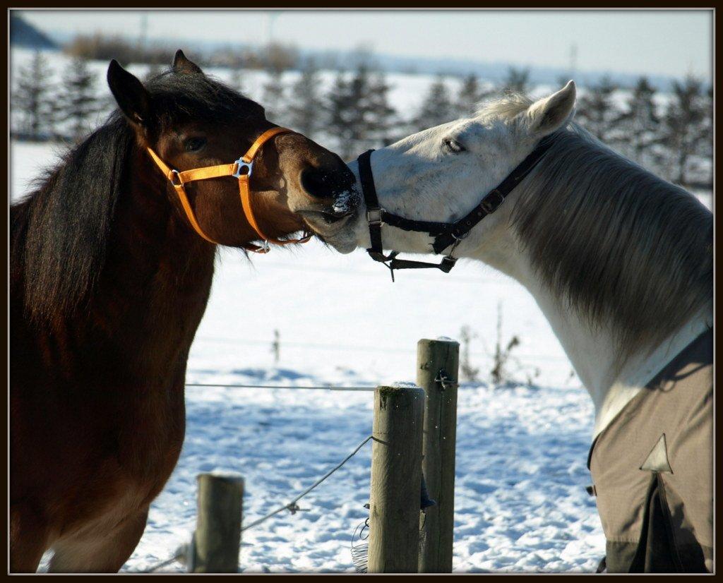
[[[139,143],[174,170],[234,163],[275,127],[261,105],[207,77],[181,51],[170,71],[145,85],[111,61],[108,85]],[[358,204],[354,175],[341,158],[301,134],[266,142],[249,185],[254,216],[271,238],[301,230],[304,220],[322,235],[333,234]],[[258,238],[241,209],[236,178],[196,181],[186,190],[200,228],[214,241],[244,246]],[[170,182],[167,191],[183,212]]]

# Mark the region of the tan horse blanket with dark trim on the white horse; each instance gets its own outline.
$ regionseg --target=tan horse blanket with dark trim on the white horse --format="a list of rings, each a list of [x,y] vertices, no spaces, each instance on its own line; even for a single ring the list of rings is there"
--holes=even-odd
[[[685,347],[594,441],[611,573],[713,570],[713,332]]]

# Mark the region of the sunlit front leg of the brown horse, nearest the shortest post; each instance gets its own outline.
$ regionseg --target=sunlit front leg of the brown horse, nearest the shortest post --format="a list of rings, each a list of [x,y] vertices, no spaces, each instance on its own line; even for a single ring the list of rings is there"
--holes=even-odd
[[[148,507],[124,519],[106,533],[89,533],[59,540],[53,546],[48,572],[116,573],[132,555],[148,518]]]

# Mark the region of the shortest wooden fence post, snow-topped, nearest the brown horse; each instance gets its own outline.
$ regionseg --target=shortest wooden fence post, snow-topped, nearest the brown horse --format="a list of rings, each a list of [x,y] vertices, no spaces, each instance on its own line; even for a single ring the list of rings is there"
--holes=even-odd
[[[192,573],[237,573],[241,548],[244,479],[200,474]]]

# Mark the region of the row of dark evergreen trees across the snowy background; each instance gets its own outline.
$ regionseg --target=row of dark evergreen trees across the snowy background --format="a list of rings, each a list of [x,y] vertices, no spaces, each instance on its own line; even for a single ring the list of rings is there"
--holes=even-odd
[[[57,87],[42,53],[35,53],[14,77],[13,134],[17,139],[80,139],[100,113],[112,107],[99,99],[98,75],[88,60],[73,57]],[[438,76],[421,95],[414,111],[401,112],[390,101],[392,87],[384,72],[361,62],[351,72],[337,72],[324,89],[322,69],[305,59],[293,82],[283,59],[267,66],[258,100],[268,118],[316,139],[345,160],[408,134],[474,115],[479,103],[502,92],[529,92],[528,69],[510,67],[503,82],[483,83],[469,74],[454,84]],[[147,77],[161,72],[151,65]],[[564,81],[566,81],[565,79]],[[560,80],[562,85],[563,80]],[[231,68],[230,84],[244,92],[244,71]],[[576,121],[596,138],[654,173],[688,187],[710,188],[713,158],[713,95],[694,78],[672,82],[659,96],[646,77],[620,92],[609,77],[583,87]]]

